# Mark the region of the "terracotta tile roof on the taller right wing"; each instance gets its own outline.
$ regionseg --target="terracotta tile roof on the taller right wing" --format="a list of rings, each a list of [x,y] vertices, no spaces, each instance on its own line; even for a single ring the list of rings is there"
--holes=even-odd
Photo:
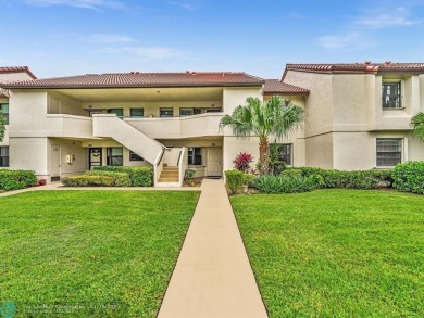
[[[283,78],[286,77],[287,71],[309,72],[309,73],[371,73],[379,72],[414,72],[424,73],[424,63],[334,63],[334,64],[287,64]]]

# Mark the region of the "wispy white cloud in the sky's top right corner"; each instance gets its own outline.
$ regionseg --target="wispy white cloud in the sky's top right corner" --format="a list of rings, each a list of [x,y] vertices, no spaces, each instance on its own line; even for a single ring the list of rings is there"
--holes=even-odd
[[[410,18],[409,10],[404,7],[398,7],[390,12],[379,12],[377,14],[367,14],[359,17],[357,24],[371,28],[385,28],[396,26],[411,26],[420,24],[422,21]]]

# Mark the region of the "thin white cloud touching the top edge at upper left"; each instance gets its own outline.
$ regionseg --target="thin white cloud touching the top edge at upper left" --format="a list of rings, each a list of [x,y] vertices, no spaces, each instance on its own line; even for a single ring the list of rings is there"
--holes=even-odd
[[[122,2],[115,0],[25,0],[25,2],[39,7],[66,5],[91,10],[100,10],[101,8],[125,9]]]

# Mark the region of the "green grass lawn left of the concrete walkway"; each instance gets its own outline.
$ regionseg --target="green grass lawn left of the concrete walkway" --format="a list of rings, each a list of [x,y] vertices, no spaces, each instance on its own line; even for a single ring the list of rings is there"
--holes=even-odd
[[[155,317],[199,192],[0,199],[0,307],[16,317]],[[1,316],[1,315],[0,315]]]

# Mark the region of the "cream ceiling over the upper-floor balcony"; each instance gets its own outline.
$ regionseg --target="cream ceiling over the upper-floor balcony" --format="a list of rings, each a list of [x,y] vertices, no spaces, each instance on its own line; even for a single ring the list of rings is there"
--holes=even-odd
[[[221,101],[219,87],[54,89],[80,102]]]

